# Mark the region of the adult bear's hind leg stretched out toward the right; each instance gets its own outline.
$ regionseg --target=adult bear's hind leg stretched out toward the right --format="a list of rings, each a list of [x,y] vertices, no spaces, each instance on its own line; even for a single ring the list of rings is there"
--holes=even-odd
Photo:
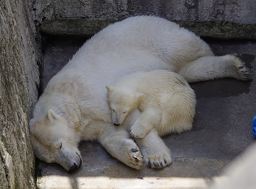
[[[239,58],[232,55],[203,56],[187,63],[180,74],[187,82],[206,81],[218,78],[250,79],[250,70]]]

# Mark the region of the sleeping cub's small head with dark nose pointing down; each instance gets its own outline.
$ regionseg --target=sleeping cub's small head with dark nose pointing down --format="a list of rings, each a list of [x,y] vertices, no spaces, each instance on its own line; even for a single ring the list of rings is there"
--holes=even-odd
[[[124,91],[114,86],[107,85],[107,98],[112,111],[112,121],[115,126],[123,123],[127,114],[138,106],[139,98],[143,95],[139,92]]]

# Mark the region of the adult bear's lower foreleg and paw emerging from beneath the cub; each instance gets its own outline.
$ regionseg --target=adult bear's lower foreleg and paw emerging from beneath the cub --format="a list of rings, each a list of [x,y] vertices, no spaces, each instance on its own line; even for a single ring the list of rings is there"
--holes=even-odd
[[[152,129],[144,138],[135,138],[143,156],[143,161],[150,168],[163,168],[172,163],[169,149],[159,137],[157,131]]]

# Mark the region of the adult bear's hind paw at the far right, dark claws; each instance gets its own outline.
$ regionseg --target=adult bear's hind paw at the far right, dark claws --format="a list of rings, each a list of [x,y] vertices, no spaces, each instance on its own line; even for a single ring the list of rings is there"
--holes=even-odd
[[[237,73],[237,79],[241,80],[249,80],[251,79],[251,72],[250,70],[245,66],[244,62],[240,61],[239,58],[233,57],[233,66],[234,70]]]

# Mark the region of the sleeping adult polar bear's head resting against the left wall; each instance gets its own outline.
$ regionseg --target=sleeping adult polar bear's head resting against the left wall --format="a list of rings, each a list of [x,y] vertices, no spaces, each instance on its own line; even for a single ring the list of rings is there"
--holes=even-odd
[[[52,109],[42,119],[30,121],[30,138],[34,154],[40,160],[57,162],[70,172],[81,167],[77,136]]]

